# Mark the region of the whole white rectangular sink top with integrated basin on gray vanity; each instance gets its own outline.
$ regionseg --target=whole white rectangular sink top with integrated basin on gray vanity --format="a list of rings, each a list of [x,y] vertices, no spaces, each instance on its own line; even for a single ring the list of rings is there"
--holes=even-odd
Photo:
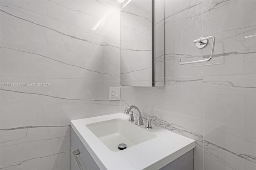
[[[138,126],[122,113],[78,119],[71,127],[100,170],[156,170],[196,146],[195,140],[152,125]],[[118,150],[118,144],[127,148]]]

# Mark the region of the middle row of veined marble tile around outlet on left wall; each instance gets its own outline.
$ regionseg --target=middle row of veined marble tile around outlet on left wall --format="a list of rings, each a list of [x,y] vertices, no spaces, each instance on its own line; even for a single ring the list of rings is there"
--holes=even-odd
[[[119,112],[119,101],[108,101],[108,88],[119,81],[1,77],[1,83],[9,81],[48,81],[51,86],[1,87],[1,128],[69,125],[70,120]]]

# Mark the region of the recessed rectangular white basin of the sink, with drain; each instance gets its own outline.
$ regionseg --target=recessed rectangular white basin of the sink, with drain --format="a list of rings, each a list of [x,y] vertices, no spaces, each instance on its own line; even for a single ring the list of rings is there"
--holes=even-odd
[[[127,148],[130,148],[156,137],[155,134],[122,119],[91,123],[86,127],[114,152],[120,151],[118,149],[120,143],[124,143]]]

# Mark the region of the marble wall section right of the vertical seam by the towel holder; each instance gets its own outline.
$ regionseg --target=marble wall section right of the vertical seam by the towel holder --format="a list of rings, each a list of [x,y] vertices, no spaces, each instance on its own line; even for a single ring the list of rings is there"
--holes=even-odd
[[[203,3],[203,33],[216,37],[216,55],[203,66],[208,170],[256,169],[255,8],[255,0]],[[203,55],[209,50],[205,48]]]

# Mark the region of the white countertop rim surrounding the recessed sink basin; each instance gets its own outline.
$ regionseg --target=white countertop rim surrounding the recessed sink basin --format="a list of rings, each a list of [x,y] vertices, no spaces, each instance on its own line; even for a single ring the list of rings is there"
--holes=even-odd
[[[129,116],[116,113],[71,121],[71,127],[101,170],[160,169],[196,146],[196,141],[193,139],[152,125],[153,128],[149,131],[156,134],[156,138],[126,148],[121,152],[113,152],[86,127],[90,123],[111,119],[128,121]],[[137,126],[134,122],[130,123]],[[138,127],[145,129],[145,123]]]

